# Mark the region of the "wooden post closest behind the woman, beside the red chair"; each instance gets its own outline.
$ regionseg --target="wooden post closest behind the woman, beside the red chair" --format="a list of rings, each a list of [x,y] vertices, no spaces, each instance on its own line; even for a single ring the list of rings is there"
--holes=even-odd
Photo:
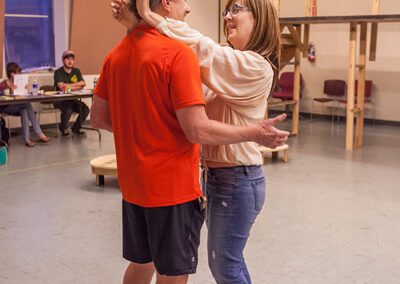
[[[296,28],[296,31],[301,35],[301,26]],[[299,116],[300,116],[300,87],[301,87],[301,47],[296,45],[296,51],[294,56],[294,86],[293,86],[293,105],[292,112],[292,135],[299,134]]]

